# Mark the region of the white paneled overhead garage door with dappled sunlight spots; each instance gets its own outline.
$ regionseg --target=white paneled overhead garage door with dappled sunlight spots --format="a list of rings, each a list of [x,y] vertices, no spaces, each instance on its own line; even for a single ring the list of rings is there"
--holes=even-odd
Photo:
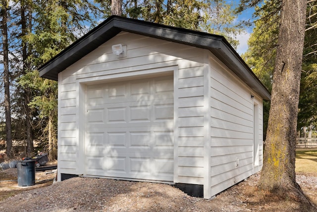
[[[173,77],[89,85],[87,175],[173,181]]]

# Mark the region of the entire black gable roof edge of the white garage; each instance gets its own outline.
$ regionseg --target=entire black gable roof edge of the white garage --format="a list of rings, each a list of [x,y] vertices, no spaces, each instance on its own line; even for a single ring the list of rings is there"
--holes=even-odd
[[[107,18],[100,25],[42,65],[39,68],[40,76],[57,81],[59,72],[97,49],[121,31],[207,49],[264,100],[270,100],[268,90],[223,36],[115,15]]]

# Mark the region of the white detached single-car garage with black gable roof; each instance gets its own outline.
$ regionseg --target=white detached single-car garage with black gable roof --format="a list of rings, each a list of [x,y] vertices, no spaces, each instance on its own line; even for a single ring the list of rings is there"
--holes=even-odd
[[[58,180],[209,199],[262,167],[270,94],[222,36],[111,16],[39,71],[58,80]]]

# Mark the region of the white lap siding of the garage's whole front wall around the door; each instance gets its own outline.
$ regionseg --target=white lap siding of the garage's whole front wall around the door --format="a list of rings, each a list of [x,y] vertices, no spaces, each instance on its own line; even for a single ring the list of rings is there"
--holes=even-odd
[[[127,56],[117,58],[111,46],[127,46]],[[80,135],[80,104],[78,82],[105,80],[113,77],[144,73],[161,67],[177,66],[179,145],[177,180],[180,183],[203,184],[204,129],[204,58],[206,50],[175,44],[131,33],[119,33],[59,74],[59,173],[83,174]],[[174,68],[171,68],[174,70]],[[205,109],[206,110],[206,109]],[[84,129],[83,129],[84,130]],[[206,137],[205,137],[206,138]],[[85,173],[84,173],[85,174]],[[88,174],[88,173],[86,173]]]

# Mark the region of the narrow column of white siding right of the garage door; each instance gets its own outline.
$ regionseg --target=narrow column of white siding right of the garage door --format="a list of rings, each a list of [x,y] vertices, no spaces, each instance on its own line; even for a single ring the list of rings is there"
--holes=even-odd
[[[178,183],[204,184],[204,65],[179,69],[177,95]]]

